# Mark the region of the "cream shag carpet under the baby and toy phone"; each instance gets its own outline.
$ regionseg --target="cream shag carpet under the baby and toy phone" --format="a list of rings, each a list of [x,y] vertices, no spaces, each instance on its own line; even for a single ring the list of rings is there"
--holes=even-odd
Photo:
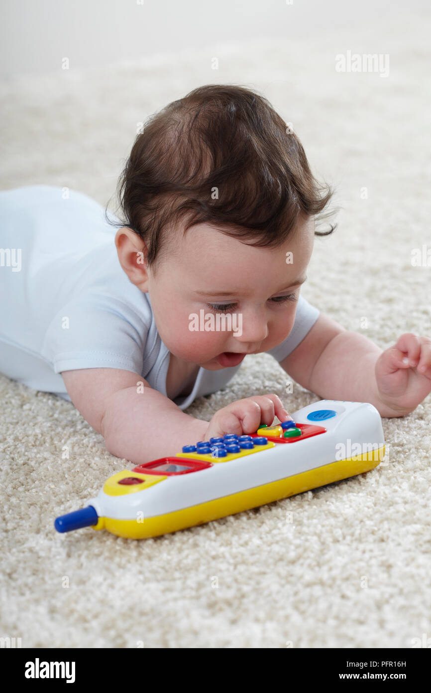
[[[405,331],[430,335],[431,268],[410,258],[431,245],[431,15],[409,12],[318,40],[3,82],[1,188],[64,185],[104,205],[136,123],[198,85],[246,85],[337,187],[338,230],[316,238],[304,296],[348,329],[367,317],[363,333],[382,349]],[[348,50],[389,54],[389,76],[336,72]],[[299,385],[287,394],[287,377],[270,356],[250,356],[188,413],[209,420],[266,392],[291,412],[319,399]],[[389,455],[374,471],[147,541],[57,534],[55,516],[131,466],[56,396],[0,376],[0,403],[2,637],[48,648],[409,648],[430,637],[430,397],[383,420]]]

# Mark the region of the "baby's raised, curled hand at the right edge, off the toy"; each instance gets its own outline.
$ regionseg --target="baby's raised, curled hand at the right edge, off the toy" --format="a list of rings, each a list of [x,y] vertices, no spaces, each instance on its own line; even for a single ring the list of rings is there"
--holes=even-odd
[[[416,409],[431,392],[431,339],[406,332],[376,361],[380,400],[405,414]]]

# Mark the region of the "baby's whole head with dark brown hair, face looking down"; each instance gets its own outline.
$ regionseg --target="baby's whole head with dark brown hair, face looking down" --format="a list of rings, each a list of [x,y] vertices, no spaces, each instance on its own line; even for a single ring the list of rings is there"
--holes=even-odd
[[[118,189],[118,258],[169,351],[218,370],[221,353],[287,337],[333,192],[265,98],[206,85],[170,103],[136,137]]]

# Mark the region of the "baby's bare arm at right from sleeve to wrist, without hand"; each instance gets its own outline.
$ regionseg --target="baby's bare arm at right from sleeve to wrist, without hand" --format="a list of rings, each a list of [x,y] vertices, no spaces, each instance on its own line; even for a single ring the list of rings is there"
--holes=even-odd
[[[324,399],[369,402],[380,416],[403,416],[411,409],[389,407],[378,394],[375,369],[381,353],[367,337],[345,330],[321,313],[280,365],[297,383]]]

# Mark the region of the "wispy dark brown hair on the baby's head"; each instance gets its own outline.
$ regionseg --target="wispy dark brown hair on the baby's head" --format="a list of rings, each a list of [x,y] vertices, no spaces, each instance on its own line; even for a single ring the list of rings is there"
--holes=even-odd
[[[179,222],[184,233],[206,222],[250,245],[278,247],[301,214],[322,216],[333,190],[318,184],[300,140],[266,98],[238,85],[205,85],[149,116],[117,194],[124,219],[110,221],[107,209],[105,218],[145,241],[156,272],[166,230]]]

